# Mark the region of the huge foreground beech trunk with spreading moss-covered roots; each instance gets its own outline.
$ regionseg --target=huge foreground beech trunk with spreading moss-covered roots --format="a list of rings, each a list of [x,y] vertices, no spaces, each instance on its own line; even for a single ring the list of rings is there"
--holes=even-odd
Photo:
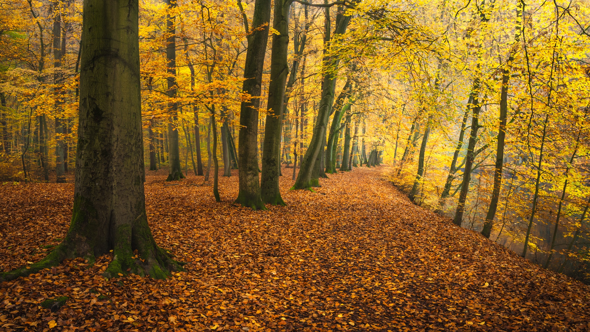
[[[104,273],[107,278],[135,273],[163,279],[182,269],[156,245],[145,212],[138,13],[137,0],[84,1],[70,229],[46,258],[28,269],[0,274],[0,281],[59,265],[63,259],[93,262],[109,250],[113,261]]]

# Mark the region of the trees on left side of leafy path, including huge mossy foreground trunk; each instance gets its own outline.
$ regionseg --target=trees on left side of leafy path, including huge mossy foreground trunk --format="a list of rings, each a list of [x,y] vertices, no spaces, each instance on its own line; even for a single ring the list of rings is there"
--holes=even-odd
[[[283,137],[281,131],[285,123],[290,132],[292,128],[296,129],[294,144],[300,143],[302,154],[301,144],[304,143],[304,139],[299,138],[297,141],[297,135],[305,134],[304,127],[309,123],[307,118],[311,117],[307,115],[306,118],[303,115],[303,112],[309,113],[309,102],[302,102],[304,97],[301,95],[305,92],[299,96],[293,93],[293,99],[299,99],[301,104],[300,115],[297,115],[296,111],[295,116],[291,117],[294,119],[294,126],[290,125],[290,121],[284,120],[287,114],[284,112],[287,104],[285,99],[293,97],[291,91],[297,80],[303,88],[306,79],[303,75],[306,61],[302,61],[300,77],[297,77],[296,68],[301,56],[305,57],[305,33],[311,26],[308,4],[303,4],[304,16],[301,18],[301,27],[304,30],[301,30],[298,37],[296,54],[291,63],[290,82],[287,82],[286,74],[289,25],[283,21],[286,21],[289,15],[293,15],[290,10],[291,2],[286,2],[283,6],[274,4],[271,79],[267,87],[264,139],[260,144],[261,184],[258,183],[260,171],[257,129],[260,121],[258,110],[261,106],[264,58],[270,30],[270,1],[255,2],[250,21],[242,10],[241,2],[237,2],[240,10],[234,12],[232,10],[235,8],[223,3],[195,5],[170,1],[165,4],[144,3],[146,7],[142,11],[139,2],[86,0],[81,8],[81,12],[84,13],[83,20],[81,25],[78,21],[77,26],[71,24],[73,21],[64,19],[67,17],[66,14],[80,14],[80,8],[76,7],[79,4],[74,2],[54,1],[43,4],[16,1],[8,5],[11,5],[12,9],[21,9],[21,15],[30,13],[36,24],[32,27],[27,26],[18,19],[5,22],[6,31],[22,32],[3,35],[6,37],[3,40],[6,50],[6,54],[3,54],[6,64],[3,71],[3,100],[8,96],[8,103],[2,108],[3,119],[8,120],[3,123],[3,128],[6,129],[2,142],[5,158],[10,161],[10,157],[19,155],[25,180],[31,178],[28,174],[31,165],[38,161],[45,180],[48,180],[48,151],[53,143],[57,181],[60,182],[64,181],[63,173],[67,165],[65,162],[69,159],[65,151],[71,154],[74,150],[71,145],[76,142],[76,181],[73,218],[64,241],[42,261],[32,264],[27,269],[0,274],[0,279],[28,275],[57,265],[66,258],[82,256],[93,261],[95,256],[109,250],[113,252],[113,261],[105,272],[107,277],[136,273],[165,278],[169,271],[181,270],[182,263],[173,260],[169,253],[156,245],[148,227],[143,193],[146,145],[143,132],[148,133],[150,169],[156,168],[158,161],[161,164],[166,160],[169,170],[167,180],[180,180],[185,176],[180,162],[180,129],[185,136],[185,147],[193,159],[194,145],[191,139],[199,142],[200,151],[199,115],[203,113],[209,118],[210,135],[207,147],[209,148],[209,140],[212,140],[212,148],[208,155],[214,164],[215,198],[220,200],[217,190],[216,155],[216,127],[219,122],[222,123],[221,151],[226,155],[232,155],[224,158],[224,166],[231,167],[233,162],[234,167],[238,167],[240,172],[240,194],[237,202],[253,209],[264,209],[263,200],[266,203],[284,205],[278,192]],[[333,17],[336,18],[336,35],[342,35],[350,20],[343,4],[340,4],[335,15],[330,15],[329,8],[332,5],[317,6],[326,8],[324,32],[328,33],[323,36],[324,60],[318,60],[320,67],[315,75],[324,76],[324,79],[329,77],[330,82],[324,84],[321,97],[323,102],[313,114],[314,130],[307,143],[307,149],[303,149],[306,152],[303,158],[300,158],[299,177],[301,172],[307,172],[308,176],[313,175],[312,169],[320,166],[313,161],[322,159],[316,155],[323,155],[319,150],[323,150],[324,144],[320,145],[317,142],[321,141],[321,135],[324,137],[323,141],[326,141],[326,131],[319,131],[318,128],[326,127],[332,108],[333,100],[327,94],[335,94],[337,68],[331,63],[337,64],[339,61],[329,50],[330,21]],[[179,8],[183,8],[182,11]],[[228,14],[232,13],[233,19],[228,17]],[[239,27],[231,24],[235,18],[242,19],[243,32],[232,31]],[[48,53],[45,51],[46,29],[43,20],[45,23],[53,21],[54,28],[51,33],[53,39],[61,43],[61,54],[68,53],[68,45],[71,50],[76,51],[75,66],[67,66],[67,57],[56,56],[56,42],[53,45],[54,67],[51,70],[45,69],[43,64]],[[140,25],[140,20],[143,25]],[[61,28],[62,26],[68,26],[69,30]],[[76,27],[79,29],[76,30]],[[77,48],[72,45],[73,43],[68,44],[66,33],[80,36]],[[31,50],[32,37],[37,38],[37,50]],[[182,50],[183,62],[177,61],[179,48]],[[9,54],[8,51],[12,53]],[[36,54],[35,51],[39,53]],[[239,66],[240,56],[244,52],[244,65]],[[326,62],[325,58],[331,60]],[[30,61],[25,61],[27,59]],[[53,73],[53,77],[50,73]],[[70,89],[67,89],[66,79],[71,84]],[[240,84],[241,89],[236,89]],[[337,116],[338,122],[330,131],[330,135],[345,132],[341,170],[350,170],[349,161],[355,163],[355,156],[363,157],[362,161],[368,165],[374,165],[380,160],[380,155],[374,149],[368,158],[366,154],[359,154],[358,151],[365,151],[365,141],[362,141],[363,148],[359,149],[357,135],[355,141],[351,142],[350,131],[353,123],[355,132],[358,132],[359,124],[366,116],[361,116],[362,112],[351,111],[353,90],[350,89],[350,83],[348,84],[349,87],[336,101],[336,106],[340,108],[338,114],[341,116]],[[235,108],[236,105],[240,105],[237,147],[233,139],[234,131],[230,128],[230,122],[237,112],[237,109],[232,107]],[[145,112],[142,112],[142,107]],[[342,116],[345,121],[342,128],[337,128]],[[73,121],[76,118],[77,124]],[[54,133],[50,135],[48,129],[51,128],[52,121]],[[191,122],[196,129],[194,135],[190,130]],[[299,122],[301,127],[297,126]],[[163,125],[168,127],[167,131],[162,131]],[[301,134],[298,132],[299,128]],[[364,132],[364,122],[362,128]],[[163,142],[167,143],[166,153]],[[31,143],[34,145],[32,151]],[[297,145],[293,145],[294,153],[296,147]],[[16,151],[13,148],[17,148]],[[309,157],[310,154],[312,157]],[[195,169],[202,169],[199,159],[197,152],[196,165],[193,161]],[[60,171],[60,167],[63,170]],[[196,170],[195,172],[199,173]],[[315,176],[317,179],[317,174]],[[112,185],[113,183],[117,185]],[[310,183],[309,179],[304,179],[303,183],[302,188],[310,186],[307,185]],[[317,185],[317,180],[315,183]]]

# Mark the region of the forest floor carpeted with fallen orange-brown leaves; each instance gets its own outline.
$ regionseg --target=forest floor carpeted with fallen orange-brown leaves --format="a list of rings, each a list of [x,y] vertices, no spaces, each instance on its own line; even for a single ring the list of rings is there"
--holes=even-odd
[[[111,257],[0,284],[0,331],[588,331],[590,288],[412,204],[387,167],[289,191],[286,207],[235,206],[238,177],[146,177],[156,242],[186,272],[106,280]],[[160,171],[162,172],[162,171]],[[0,271],[63,239],[73,184],[0,185]],[[2,229],[4,227],[4,229]],[[47,298],[68,297],[55,313]]]

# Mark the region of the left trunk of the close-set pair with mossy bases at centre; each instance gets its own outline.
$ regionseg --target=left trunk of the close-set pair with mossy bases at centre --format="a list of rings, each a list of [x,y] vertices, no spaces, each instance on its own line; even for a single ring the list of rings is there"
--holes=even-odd
[[[242,102],[240,108],[240,135],[238,136],[238,159],[240,160],[240,191],[235,203],[253,210],[266,210],[260,197],[258,182],[258,106],[266,44],[270,22],[270,0],[256,0],[254,5],[253,32],[248,38],[248,50],[244,65],[242,91],[252,98]],[[282,99],[281,99],[282,102]]]

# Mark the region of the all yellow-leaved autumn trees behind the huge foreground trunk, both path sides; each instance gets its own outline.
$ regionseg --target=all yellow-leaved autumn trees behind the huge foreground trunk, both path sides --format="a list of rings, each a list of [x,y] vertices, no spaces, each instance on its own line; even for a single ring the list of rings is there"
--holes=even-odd
[[[47,178],[55,152],[62,174],[74,151],[80,162],[92,109],[76,83],[81,4],[2,6],[28,18],[2,21],[6,159]],[[337,168],[383,161],[415,203],[582,271],[589,13],[559,1],[142,1],[145,160],[169,181],[189,159],[195,174],[212,167],[221,200],[219,159],[224,175],[238,168],[236,202],[255,210],[285,204],[281,162],[293,189],[313,190]]]

